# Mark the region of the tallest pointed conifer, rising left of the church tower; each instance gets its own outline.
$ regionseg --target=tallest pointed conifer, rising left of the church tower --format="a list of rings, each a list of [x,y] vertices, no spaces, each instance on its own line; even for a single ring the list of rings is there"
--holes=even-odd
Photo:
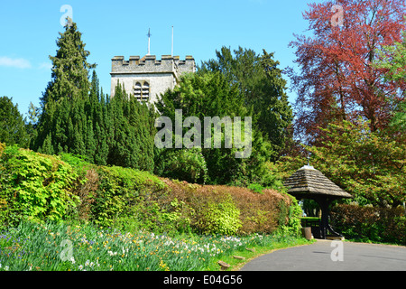
[[[42,94],[42,115],[32,148],[43,151],[45,145],[48,152],[86,154],[87,141],[83,138],[88,122],[84,107],[90,89],[89,70],[96,64],[87,61],[90,52],[85,50],[76,23],[65,26],[57,46],[56,55],[50,56],[51,81]]]

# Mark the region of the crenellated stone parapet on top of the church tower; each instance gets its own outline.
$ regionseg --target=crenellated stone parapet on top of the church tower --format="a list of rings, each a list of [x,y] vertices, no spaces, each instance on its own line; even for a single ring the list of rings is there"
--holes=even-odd
[[[137,74],[137,73],[174,73],[176,76],[183,72],[195,72],[196,65],[192,56],[186,56],[180,61],[179,56],[162,55],[156,60],[155,55],[130,56],[125,61],[124,56],[115,56],[112,60],[111,74]]]

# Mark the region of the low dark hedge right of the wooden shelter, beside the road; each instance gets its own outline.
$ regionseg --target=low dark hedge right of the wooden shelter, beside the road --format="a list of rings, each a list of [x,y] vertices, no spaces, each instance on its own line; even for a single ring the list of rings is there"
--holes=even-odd
[[[338,204],[331,210],[334,228],[346,238],[406,245],[405,210]]]

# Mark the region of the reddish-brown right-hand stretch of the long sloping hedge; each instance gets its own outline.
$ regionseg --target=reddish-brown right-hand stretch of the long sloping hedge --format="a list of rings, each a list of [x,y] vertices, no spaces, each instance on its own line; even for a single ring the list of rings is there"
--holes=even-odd
[[[202,232],[207,228],[203,228],[202,224],[207,221],[205,211],[210,208],[210,213],[217,216],[218,221],[227,222],[226,216],[236,216],[236,211],[239,211],[239,221],[233,224],[227,223],[233,229],[238,227],[236,234],[245,235],[252,233],[271,234],[279,227],[279,217],[281,210],[286,209],[282,213],[283,224],[288,231],[295,224],[295,221],[290,220],[294,214],[291,214],[291,205],[293,200],[286,194],[281,194],[278,191],[271,189],[263,189],[263,193],[256,193],[247,188],[220,186],[220,185],[198,185],[188,182],[173,182],[168,179],[162,179],[170,190],[171,198],[183,201],[189,208],[187,218],[190,219],[192,228],[197,228]],[[228,196],[231,199],[228,199]],[[224,204],[226,200],[227,214],[222,216],[218,212],[218,206],[214,204]],[[233,205],[231,204],[231,200]],[[284,206],[282,208],[282,206]],[[186,218],[186,216],[185,216]],[[211,219],[212,222],[213,219]],[[241,222],[241,223],[240,223]],[[297,220],[300,226],[300,219]],[[241,224],[241,227],[239,226]],[[215,225],[216,226],[216,223]],[[224,229],[224,228],[222,228]],[[296,230],[296,229],[294,229]]]

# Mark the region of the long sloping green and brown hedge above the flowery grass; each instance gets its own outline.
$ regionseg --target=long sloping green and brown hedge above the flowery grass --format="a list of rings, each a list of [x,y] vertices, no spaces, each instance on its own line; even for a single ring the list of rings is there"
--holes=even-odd
[[[22,219],[73,219],[157,232],[244,235],[300,232],[300,207],[265,189],[198,185],[70,154],[0,145],[0,227]]]

